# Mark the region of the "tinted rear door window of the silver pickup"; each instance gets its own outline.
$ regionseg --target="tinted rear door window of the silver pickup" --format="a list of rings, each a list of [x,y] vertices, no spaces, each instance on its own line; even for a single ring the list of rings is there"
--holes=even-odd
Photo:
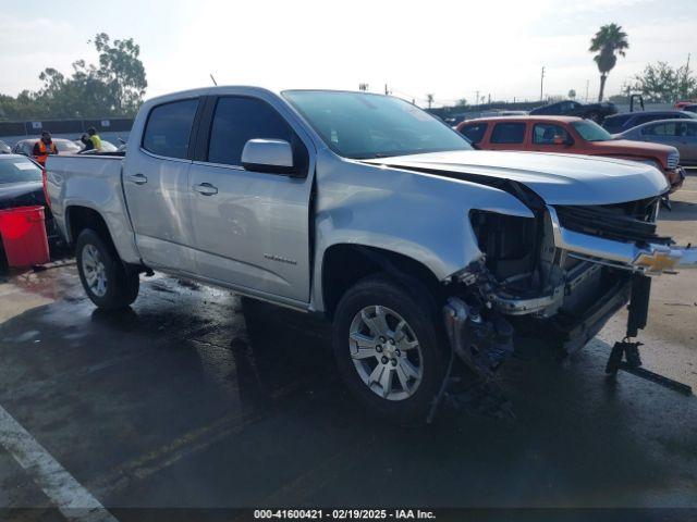
[[[172,101],[155,107],[143,133],[143,148],[167,158],[188,157],[198,99]]]

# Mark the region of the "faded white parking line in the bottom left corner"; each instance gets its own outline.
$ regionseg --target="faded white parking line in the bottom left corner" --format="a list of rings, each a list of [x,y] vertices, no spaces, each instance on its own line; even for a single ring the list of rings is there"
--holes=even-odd
[[[118,522],[2,406],[0,446],[14,457],[68,520]]]

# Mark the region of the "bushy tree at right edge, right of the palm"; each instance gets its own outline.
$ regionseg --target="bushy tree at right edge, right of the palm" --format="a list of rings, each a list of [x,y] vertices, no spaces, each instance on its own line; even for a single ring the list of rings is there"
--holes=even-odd
[[[648,64],[634,79],[632,89],[641,92],[648,102],[669,103],[697,98],[697,78],[686,65],[673,69],[665,62]]]

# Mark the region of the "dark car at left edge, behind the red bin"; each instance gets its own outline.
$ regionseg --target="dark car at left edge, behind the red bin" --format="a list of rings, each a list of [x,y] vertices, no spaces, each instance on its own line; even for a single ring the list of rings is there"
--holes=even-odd
[[[46,201],[44,174],[35,161],[20,154],[0,156],[0,210],[15,207],[42,206],[46,232],[51,240],[57,239],[57,228]],[[0,241],[0,264],[4,264],[4,252]]]

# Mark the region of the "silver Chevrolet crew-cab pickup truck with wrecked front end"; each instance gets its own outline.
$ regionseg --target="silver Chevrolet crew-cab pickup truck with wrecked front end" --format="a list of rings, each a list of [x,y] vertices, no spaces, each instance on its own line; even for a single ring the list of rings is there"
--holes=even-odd
[[[157,270],[321,313],[347,386],[398,420],[453,359],[488,377],[526,325],[574,351],[637,278],[696,263],[656,233],[652,166],[476,151],[392,97],[178,92],[143,105],[126,150],[47,166],[96,306]]]

